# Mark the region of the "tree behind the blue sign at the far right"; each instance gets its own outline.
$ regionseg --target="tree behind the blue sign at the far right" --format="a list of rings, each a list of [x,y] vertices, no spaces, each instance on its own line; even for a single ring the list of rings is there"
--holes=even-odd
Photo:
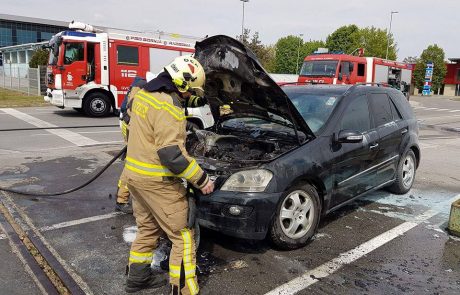
[[[434,92],[437,92],[441,88],[444,82],[444,77],[447,73],[447,67],[444,59],[444,50],[436,44],[430,45],[425,50],[423,50],[417,62],[417,65],[415,66],[415,87],[417,87],[418,89],[423,88],[423,84],[425,82],[426,64],[428,62],[433,62],[434,67],[431,88]]]

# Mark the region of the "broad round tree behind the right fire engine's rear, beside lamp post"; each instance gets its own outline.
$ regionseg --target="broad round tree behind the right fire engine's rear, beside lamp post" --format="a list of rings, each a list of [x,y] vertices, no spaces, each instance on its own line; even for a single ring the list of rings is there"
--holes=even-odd
[[[389,39],[388,59],[396,60],[397,44],[394,41],[393,35],[388,35],[386,30],[375,27],[362,28],[356,33],[355,38],[357,38],[355,48],[364,48],[365,56],[380,58],[385,58],[386,56]]]

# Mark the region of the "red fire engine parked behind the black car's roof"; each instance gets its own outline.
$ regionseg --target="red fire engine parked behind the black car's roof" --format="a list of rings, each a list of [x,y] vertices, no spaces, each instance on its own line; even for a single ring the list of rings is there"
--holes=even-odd
[[[318,50],[305,58],[299,83],[357,84],[382,83],[409,94],[412,65],[377,57],[363,57],[343,53],[328,53]]]

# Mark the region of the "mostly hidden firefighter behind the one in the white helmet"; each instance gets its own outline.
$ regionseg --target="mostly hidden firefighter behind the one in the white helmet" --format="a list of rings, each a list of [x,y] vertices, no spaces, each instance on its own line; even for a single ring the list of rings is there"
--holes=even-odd
[[[120,125],[121,125],[121,133],[123,135],[123,139],[125,144],[128,143],[128,124],[129,124],[129,116],[128,113],[128,106],[131,104],[134,95],[144,86],[146,83],[145,79],[141,77],[134,78],[133,83],[129,88],[128,93],[125,95],[125,99],[120,108]],[[115,211],[121,211],[127,214],[133,214],[133,207],[129,203],[129,190],[126,182],[126,175],[125,170],[121,172],[120,179],[118,180],[118,189],[117,189],[117,201],[115,204]]]

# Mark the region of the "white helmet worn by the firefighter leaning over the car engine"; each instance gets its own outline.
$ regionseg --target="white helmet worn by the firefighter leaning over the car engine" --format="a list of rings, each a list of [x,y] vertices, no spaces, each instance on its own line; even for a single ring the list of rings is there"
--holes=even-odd
[[[179,56],[165,67],[171,75],[174,85],[180,92],[193,90],[199,96],[204,95],[206,81],[203,66],[191,55]]]

